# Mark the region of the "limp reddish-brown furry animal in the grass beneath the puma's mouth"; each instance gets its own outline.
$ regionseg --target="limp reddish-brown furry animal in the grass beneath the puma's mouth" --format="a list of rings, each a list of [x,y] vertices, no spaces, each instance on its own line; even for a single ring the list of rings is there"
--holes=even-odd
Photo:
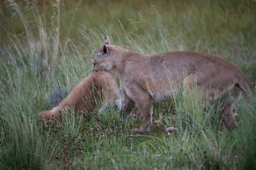
[[[74,107],[75,112],[93,111],[97,102],[100,102],[102,98],[105,104],[99,112],[107,107],[107,102],[113,100],[115,100],[114,103],[118,110],[122,109],[119,89],[114,77],[108,71],[94,71],[78,83],[59,106],[43,111],[41,114],[44,121],[53,122],[56,115],[61,115],[63,111],[70,112],[72,107]]]

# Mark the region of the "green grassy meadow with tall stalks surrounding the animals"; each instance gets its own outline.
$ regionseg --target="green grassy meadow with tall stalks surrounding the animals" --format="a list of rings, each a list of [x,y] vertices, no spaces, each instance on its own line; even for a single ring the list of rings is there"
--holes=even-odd
[[[105,36],[129,50],[198,51],[239,67],[256,87],[256,2],[0,2],[0,169],[255,169],[256,95],[242,96],[238,127],[226,130],[196,87],[154,103],[149,132],[134,134],[114,107],[102,115],[63,114],[47,126],[38,115],[56,106],[92,72]],[[118,78],[116,78],[119,82]],[[218,104],[218,100],[214,101]],[[164,127],[174,126],[173,133]]]

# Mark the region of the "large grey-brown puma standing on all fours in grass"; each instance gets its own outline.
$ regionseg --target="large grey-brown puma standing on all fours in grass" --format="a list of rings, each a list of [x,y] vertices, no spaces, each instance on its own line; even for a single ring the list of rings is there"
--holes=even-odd
[[[108,37],[94,53],[92,64],[92,70],[113,70],[120,79],[124,115],[128,116],[134,107],[139,109],[142,124],[134,129],[136,132],[150,129],[152,103],[171,97],[170,81],[191,87],[196,78],[196,86],[203,92],[203,102],[221,98],[222,119],[227,129],[237,126],[233,103],[241,92],[249,100],[247,87],[253,90],[244,73],[220,57],[188,51],[146,55],[110,45]]]

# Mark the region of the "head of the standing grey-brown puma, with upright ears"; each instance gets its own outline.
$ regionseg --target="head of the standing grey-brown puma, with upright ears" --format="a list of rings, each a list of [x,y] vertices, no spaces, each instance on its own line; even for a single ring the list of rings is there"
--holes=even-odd
[[[113,65],[108,61],[110,45],[109,38],[106,37],[104,43],[95,51],[92,58],[92,71],[112,70]]]

